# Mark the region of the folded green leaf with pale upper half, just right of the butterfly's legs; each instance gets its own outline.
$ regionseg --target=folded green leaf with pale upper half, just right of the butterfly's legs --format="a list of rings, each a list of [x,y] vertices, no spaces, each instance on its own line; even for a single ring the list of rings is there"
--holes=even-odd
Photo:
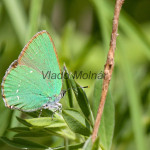
[[[89,136],[91,134],[90,124],[78,111],[74,109],[67,109],[62,111],[62,115],[73,132],[85,136]]]

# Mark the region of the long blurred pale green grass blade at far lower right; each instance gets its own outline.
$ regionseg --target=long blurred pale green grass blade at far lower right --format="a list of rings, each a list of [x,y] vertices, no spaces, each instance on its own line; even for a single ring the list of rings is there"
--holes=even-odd
[[[122,40],[123,41],[123,40]],[[123,45],[123,44],[122,44]],[[123,78],[125,80],[125,87],[127,90],[128,103],[132,119],[132,127],[135,135],[135,142],[137,150],[146,150],[146,143],[144,137],[144,128],[142,125],[142,110],[139,95],[134,84],[134,75],[132,75],[131,66],[127,59],[125,49],[120,49],[121,68],[123,71]]]

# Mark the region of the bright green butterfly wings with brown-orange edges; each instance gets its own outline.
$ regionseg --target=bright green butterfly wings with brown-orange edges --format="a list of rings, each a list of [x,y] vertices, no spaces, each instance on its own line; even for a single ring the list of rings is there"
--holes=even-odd
[[[28,42],[3,78],[2,96],[6,106],[34,111],[49,101],[53,103],[61,92],[62,81],[43,79],[42,72],[47,71],[60,73],[53,41],[46,31],[41,31]]]

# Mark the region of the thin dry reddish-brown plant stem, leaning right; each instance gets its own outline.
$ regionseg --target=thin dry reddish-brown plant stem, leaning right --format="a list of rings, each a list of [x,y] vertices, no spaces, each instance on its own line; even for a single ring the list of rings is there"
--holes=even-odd
[[[104,104],[106,100],[106,95],[109,87],[109,82],[111,80],[113,68],[114,68],[114,53],[115,53],[115,48],[116,48],[116,38],[118,36],[117,31],[118,31],[118,20],[119,20],[119,14],[120,10],[122,7],[124,0],[116,0],[116,5],[115,5],[115,12],[114,12],[114,19],[113,19],[113,28],[112,28],[112,34],[111,34],[111,40],[110,40],[110,48],[109,52],[107,55],[107,61],[104,67],[104,80],[103,80],[103,87],[102,87],[102,94],[101,94],[101,99],[100,99],[100,105],[98,108],[98,113],[94,125],[94,130],[92,134],[92,141],[94,142],[97,137],[103,109],[104,109]]]

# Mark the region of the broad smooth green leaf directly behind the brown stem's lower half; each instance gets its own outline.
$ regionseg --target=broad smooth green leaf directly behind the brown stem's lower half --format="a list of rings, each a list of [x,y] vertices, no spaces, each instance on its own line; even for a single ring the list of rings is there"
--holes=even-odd
[[[94,88],[94,116],[96,117],[100,97],[102,91],[102,80],[96,80],[95,88]],[[114,132],[114,124],[115,124],[115,109],[114,103],[111,99],[110,92],[108,91],[106,102],[104,106],[104,111],[101,119],[101,124],[99,127],[98,135],[100,136],[100,144],[104,149],[109,150],[112,144],[113,132]]]

